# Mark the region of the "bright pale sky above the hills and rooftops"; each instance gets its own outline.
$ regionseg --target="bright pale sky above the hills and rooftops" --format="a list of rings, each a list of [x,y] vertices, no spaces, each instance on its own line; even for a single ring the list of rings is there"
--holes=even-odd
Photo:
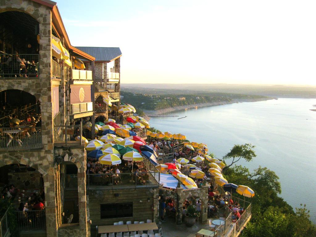
[[[121,49],[121,83],[316,85],[316,1],[57,5],[73,46]]]

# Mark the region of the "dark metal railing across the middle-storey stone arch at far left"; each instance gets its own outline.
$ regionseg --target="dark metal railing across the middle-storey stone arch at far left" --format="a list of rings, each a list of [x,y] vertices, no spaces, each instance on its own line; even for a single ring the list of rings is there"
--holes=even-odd
[[[41,128],[31,126],[17,126],[0,128],[0,150],[41,149]]]

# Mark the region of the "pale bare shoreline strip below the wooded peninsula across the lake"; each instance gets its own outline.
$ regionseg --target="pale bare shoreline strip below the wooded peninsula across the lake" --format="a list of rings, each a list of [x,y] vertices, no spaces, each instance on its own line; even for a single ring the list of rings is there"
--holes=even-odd
[[[147,114],[163,114],[173,111],[179,111],[179,110],[185,110],[185,108],[192,108],[197,106],[197,108],[201,107],[208,107],[208,106],[216,106],[216,105],[226,105],[226,104],[234,104],[239,102],[257,102],[257,101],[263,101],[263,100],[275,100],[276,98],[258,98],[258,99],[240,99],[240,100],[232,100],[232,101],[216,101],[216,102],[209,102],[209,103],[200,103],[200,104],[191,104],[191,105],[182,105],[182,106],[175,106],[165,109],[159,109],[159,110],[144,110],[144,113],[147,117],[150,118]]]

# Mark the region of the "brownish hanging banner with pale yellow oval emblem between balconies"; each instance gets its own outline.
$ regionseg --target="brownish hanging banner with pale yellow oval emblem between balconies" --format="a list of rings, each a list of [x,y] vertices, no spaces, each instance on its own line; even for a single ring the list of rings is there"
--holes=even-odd
[[[92,102],[92,85],[70,85],[70,104]]]

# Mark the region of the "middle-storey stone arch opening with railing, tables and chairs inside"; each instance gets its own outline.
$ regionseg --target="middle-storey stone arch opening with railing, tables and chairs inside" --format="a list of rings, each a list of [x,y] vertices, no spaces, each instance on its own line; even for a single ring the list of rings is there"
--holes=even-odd
[[[9,89],[0,92],[0,150],[42,147],[40,101],[32,94]]]

